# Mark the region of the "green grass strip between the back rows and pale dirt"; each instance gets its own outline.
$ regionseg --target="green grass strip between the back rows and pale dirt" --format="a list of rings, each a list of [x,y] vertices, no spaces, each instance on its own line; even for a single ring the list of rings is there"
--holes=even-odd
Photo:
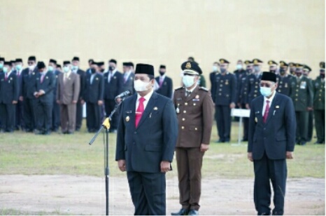
[[[232,126],[236,142],[237,124]],[[84,122],[85,126],[85,122]],[[85,130],[85,128],[83,128]],[[90,146],[92,133],[48,136],[16,132],[0,134],[0,175],[104,175],[104,135]],[[110,134],[110,175],[122,176],[115,159],[115,138]],[[241,146],[216,144],[213,128],[210,149],[204,156],[203,176],[220,178],[253,177],[253,164],[246,158],[246,143]],[[176,162],[173,161],[176,169]],[[325,177],[325,145],[296,146],[295,159],[288,161],[289,177]],[[169,175],[168,175],[169,177]],[[171,177],[171,176],[170,176]]]

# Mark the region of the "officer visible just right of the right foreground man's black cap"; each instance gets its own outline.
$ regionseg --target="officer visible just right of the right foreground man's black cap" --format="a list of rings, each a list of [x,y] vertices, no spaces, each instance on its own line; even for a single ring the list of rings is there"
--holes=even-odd
[[[290,97],[290,85],[292,76],[288,74],[288,64],[280,62],[280,74],[277,75],[278,87],[277,92]]]

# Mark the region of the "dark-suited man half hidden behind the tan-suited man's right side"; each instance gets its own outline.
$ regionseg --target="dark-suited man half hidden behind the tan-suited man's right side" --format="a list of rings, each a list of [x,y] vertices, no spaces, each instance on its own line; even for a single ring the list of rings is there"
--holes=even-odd
[[[71,71],[75,74],[79,75],[79,80],[80,80],[80,93],[79,93],[79,99],[77,102],[77,106],[76,106],[76,131],[79,131],[82,123],[83,123],[83,103],[82,101],[85,100],[83,98],[84,95],[84,90],[86,88],[86,83],[85,83],[85,79],[86,79],[86,74],[83,70],[81,70],[79,68],[79,58],[78,57],[73,57],[72,60],[72,68]]]

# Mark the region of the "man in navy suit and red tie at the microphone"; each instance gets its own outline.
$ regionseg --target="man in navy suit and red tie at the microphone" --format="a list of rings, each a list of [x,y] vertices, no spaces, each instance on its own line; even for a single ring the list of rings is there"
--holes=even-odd
[[[165,173],[178,136],[172,101],[153,91],[152,65],[136,65],[137,94],[122,102],[115,160],[127,170],[134,215],[166,215]]]

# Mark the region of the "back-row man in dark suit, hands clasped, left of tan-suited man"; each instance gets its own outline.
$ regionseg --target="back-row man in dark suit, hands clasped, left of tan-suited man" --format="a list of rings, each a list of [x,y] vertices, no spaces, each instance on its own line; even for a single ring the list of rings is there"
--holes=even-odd
[[[55,89],[55,75],[48,71],[44,62],[38,62],[36,75],[36,134],[49,135],[52,123],[53,90]]]

